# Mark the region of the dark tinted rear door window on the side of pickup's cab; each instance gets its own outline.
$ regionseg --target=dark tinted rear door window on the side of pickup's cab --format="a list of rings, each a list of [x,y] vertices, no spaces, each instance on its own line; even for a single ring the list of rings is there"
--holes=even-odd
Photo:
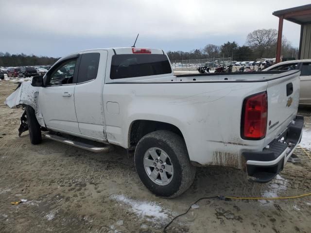
[[[99,59],[100,59],[99,52],[82,54],[79,65],[77,83],[84,83],[96,79],[99,66]]]

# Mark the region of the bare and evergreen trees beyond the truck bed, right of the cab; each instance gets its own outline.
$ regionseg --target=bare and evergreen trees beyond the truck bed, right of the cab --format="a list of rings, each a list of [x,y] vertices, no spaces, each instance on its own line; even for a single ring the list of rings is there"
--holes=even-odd
[[[195,49],[190,52],[168,51],[167,54],[172,62],[221,57],[232,57],[233,61],[255,61],[258,58],[275,58],[276,41],[276,29],[260,29],[249,33],[243,46],[239,46],[235,41],[228,41],[220,46],[207,44],[203,49]],[[284,36],[282,37],[281,55],[295,59],[298,56],[298,48],[294,48]]]

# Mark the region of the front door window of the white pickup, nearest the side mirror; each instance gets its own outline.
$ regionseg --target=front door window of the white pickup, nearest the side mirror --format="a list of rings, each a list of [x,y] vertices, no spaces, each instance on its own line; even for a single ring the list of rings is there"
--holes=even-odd
[[[50,82],[48,85],[62,85],[70,84],[73,80],[73,75],[76,68],[77,59],[66,61],[60,64],[50,76]]]

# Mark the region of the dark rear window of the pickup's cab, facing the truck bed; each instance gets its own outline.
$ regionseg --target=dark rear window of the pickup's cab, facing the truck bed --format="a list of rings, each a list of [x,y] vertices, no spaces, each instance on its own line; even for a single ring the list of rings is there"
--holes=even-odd
[[[164,54],[117,54],[112,56],[110,79],[125,79],[172,73]]]

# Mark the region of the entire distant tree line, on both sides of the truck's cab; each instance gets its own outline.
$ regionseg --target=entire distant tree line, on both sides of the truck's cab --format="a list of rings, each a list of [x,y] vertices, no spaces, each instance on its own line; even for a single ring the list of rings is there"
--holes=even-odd
[[[239,46],[235,41],[226,42],[223,45],[207,44],[203,49],[195,49],[190,52],[168,51],[167,54],[172,62],[175,60],[207,59],[232,57],[233,61],[255,61],[258,58],[276,57],[276,29],[260,29],[249,33],[245,45]],[[297,59],[298,48],[294,48],[285,37],[282,38],[281,55]],[[10,54],[0,52],[1,67],[52,65],[58,58],[47,56],[35,56]]]

